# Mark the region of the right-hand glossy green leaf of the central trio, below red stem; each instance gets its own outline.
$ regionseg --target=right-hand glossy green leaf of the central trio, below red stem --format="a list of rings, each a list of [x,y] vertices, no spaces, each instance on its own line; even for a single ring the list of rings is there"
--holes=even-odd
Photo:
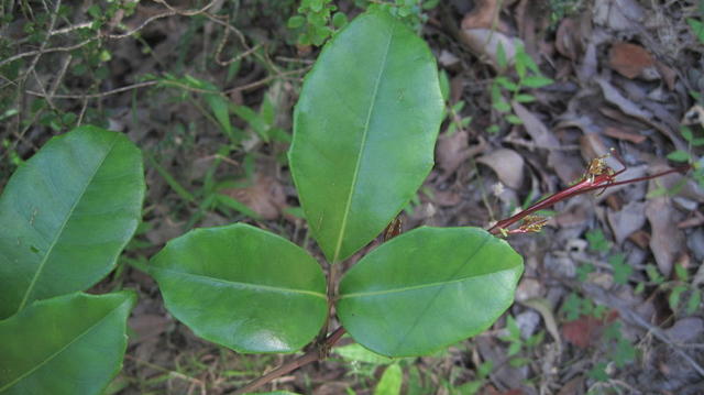
[[[420,228],[342,278],[338,317],[383,355],[422,355],[488,328],[513,303],[522,259],[479,228]]]

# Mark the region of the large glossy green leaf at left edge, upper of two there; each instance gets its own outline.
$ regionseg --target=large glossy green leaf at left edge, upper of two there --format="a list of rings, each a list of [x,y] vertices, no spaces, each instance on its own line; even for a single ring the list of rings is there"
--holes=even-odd
[[[100,281],[143,199],[142,155],[125,135],[82,127],[47,142],[0,197],[0,319]]]

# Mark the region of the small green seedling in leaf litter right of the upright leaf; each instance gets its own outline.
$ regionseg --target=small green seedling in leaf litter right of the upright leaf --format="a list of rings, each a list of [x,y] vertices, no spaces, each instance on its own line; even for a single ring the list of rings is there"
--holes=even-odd
[[[490,88],[492,96],[492,107],[498,111],[504,119],[512,124],[521,124],[522,121],[512,111],[512,101],[519,103],[528,103],[536,98],[526,92],[527,88],[542,88],[554,81],[542,75],[538,65],[528,55],[522,44],[516,43],[516,53],[514,55],[514,68],[516,76],[513,74],[504,74],[494,78]],[[497,66],[502,70],[508,69],[508,61],[503,45],[498,45],[496,53]],[[498,124],[493,124],[487,129],[490,133],[499,131]]]

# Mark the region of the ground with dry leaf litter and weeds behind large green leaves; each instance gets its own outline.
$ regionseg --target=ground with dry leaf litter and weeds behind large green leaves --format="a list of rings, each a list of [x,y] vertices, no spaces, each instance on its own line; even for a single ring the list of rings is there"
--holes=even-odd
[[[54,31],[65,31],[44,50],[81,44],[70,26],[90,22],[95,2],[80,3],[56,21]],[[78,123],[125,132],[145,153],[144,223],[94,289],[140,296],[110,394],[230,394],[294,358],[241,355],[199,339],[133,263],[189,229],[235,221],[320,255],[285,155],[293,106],[320,51],[296,45],[299,33],[287,28],[297,3],[141,1],[116,12],[98,44],[23,63],[36,78],[20,85],[8,83],[14,63],[2,58],[38,45],[22,41],[30,17],[18,11],[0,30],[0,112],[24,109],[3,116],[0,185],[18,161]],[[351,20],[364,1],[334,3]],[[701,163],[703,4],[448,0],[418,14],[447,84],[448,118],[436,166],[402,213],[404,230],[488,228],[588,175],[610,149],[606,163],[627,167],[617,180]],[[535,84],[518,77],[525,56],[537,66],[527,66]],[[211,113],[204,84],[240,109],[230,114],[235,138]],[[35,111],[37,98],[48,105]],[[262,129],[275,138],[263,141]],[[526,264],[515,305],[480,336],[398,361],[402,393],[704,394],[703,187],[704,175],[691,171],[595,190],[550,208],[540,232],[509,235]],[[388,363],[343,340],[328,360],[263,389],[373,394]]]

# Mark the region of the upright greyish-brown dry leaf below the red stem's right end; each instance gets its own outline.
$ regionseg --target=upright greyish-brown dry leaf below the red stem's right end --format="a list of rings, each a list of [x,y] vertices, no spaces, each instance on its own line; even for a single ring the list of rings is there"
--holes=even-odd
[[[668,197],[657,197],[646,204],[646,217],[650,222],[650,251],[656,257],[660,273],[670,277],[672,264],[684,248],[684,237],[678,229],[679,217]]]

